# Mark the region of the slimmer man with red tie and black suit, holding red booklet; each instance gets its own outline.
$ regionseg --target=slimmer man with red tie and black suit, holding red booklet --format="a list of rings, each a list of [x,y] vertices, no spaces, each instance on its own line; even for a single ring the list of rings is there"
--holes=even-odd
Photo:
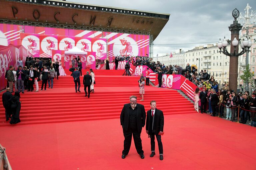
[[[150,137],[151,154],[150,157],[155,155],[155,135],[158,143],[160,160],[163,160],[163,144],[161,141],[161,133],[164,131],[164,114],[161,110],[156,108],[156,101],[150,102],[151,109],[147,111],[146,133]],[[159,134],[160,133],[160,134]]]

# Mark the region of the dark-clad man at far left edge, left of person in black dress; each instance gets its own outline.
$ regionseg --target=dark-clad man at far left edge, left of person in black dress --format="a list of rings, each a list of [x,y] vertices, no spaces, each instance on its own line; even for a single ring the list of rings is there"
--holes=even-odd
[[[5,108],[5,118],[6,121],[9,120],[9,118],[11,118],[11,106],[10,106],[10,102],[12,100],[12,93],[11,93],[11,89],[8,87],[6,88],[6,92],[3,93],[2,95],[2,102],[3,102],[3,106]]]

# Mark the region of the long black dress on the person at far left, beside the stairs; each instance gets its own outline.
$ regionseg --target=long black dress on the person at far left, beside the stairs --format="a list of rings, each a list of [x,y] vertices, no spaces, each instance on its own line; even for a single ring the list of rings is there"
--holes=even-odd
[[[17,124],[20,122],[20,109],[21,109],[20,98],[17,96],[14,96],[10,103],[11,103],[11,113],[12,113],[10,124]]]

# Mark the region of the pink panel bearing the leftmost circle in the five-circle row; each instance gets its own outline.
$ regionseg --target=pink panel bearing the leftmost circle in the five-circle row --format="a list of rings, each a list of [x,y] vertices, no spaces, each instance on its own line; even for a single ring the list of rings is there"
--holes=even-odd
[[[40,35],[20,33],[23,45],[34,57],[40,57]]]

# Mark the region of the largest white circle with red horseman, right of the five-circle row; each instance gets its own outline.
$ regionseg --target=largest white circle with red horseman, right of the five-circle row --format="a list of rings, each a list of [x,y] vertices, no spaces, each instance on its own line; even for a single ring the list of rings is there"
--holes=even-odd
[[[116,55],[122,55],[122,56],[140,55],[139,48],[138,48],[136,41],[134,41],[130,37],[125,37],[123,39],[114,40],[113,52],[114,52],[114,56],[116,56]]]

